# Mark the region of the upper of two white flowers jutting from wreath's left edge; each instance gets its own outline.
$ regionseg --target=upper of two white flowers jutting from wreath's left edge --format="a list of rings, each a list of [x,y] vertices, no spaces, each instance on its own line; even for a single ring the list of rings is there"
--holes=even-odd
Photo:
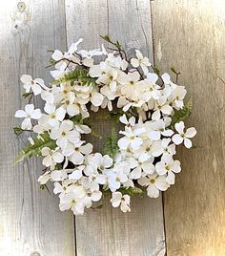
[[[31,75],[22,75],[20,80],[24,83],[26,93],[32,91],[34,96],[40,95],[42,88],[48,89],[48,87],[45,86],[44,80],[41,78],[32,79]]]

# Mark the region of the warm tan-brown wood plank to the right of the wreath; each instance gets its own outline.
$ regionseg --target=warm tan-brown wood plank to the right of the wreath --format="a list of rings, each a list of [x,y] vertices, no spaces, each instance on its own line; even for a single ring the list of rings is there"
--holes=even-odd
[[[165,193],[169,256],[225,254],[225,2],[153,1],[156,66],[181,72],[194,102],[198,149],[180,150],[183,171]]]

